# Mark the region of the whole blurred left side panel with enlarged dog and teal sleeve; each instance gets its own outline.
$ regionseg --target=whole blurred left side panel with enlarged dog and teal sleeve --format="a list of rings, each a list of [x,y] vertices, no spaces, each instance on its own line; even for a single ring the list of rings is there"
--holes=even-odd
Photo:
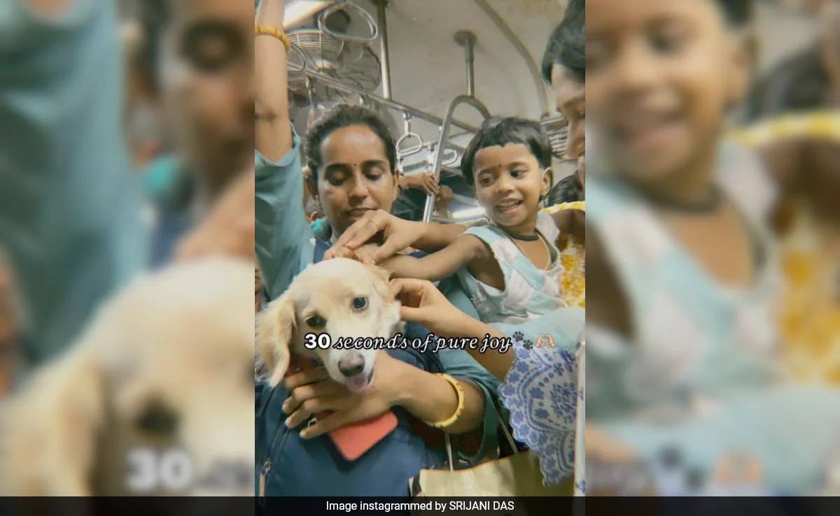
[[[0,12],[0,493],[253,493],[252,6]]]

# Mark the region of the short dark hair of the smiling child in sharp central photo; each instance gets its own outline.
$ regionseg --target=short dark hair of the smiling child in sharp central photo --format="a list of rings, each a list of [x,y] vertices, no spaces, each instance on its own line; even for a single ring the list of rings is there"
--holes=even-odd
[[[538,122],[517,117],[492,117],[467,145],[461,159],[461,174],[468,185],[475,184],[475,154],[487,147],[504,147],[508,143],[522,143],[528,147],[543,169],[551,166],[551,142]]]

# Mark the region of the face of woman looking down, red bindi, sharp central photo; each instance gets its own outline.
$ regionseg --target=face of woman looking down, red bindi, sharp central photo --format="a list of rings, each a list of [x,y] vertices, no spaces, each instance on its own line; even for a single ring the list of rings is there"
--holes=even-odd
[[[367,211],[391,211],[396,199],[396,175],[376,133],[365,126],[349,126],[321,143],[323,165],[312,196],[339,236]]]

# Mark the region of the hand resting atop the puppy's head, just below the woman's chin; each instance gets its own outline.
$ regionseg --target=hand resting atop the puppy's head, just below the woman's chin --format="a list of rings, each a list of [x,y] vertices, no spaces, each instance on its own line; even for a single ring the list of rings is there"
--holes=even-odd
[[[382,233],[382,245],[365,258],[365,263],[375,265],[386,258],[391,258],[405,248],[410,248],[423,233],[422,223],[403,220],[387,211],[368,211],[335,242],[324,254],[324,259],[351,258],[354,252],[365,245],[371,238]],[[356,258],[359,259],[359,258]],[[364,261],[364,260],[363,260]],[[372,263],[371,263],[372,262]]]

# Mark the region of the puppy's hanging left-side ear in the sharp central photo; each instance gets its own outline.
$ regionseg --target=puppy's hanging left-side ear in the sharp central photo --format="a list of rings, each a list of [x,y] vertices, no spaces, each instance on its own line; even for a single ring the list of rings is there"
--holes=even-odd
[[[289,344],[294,335],[295,304],[290,294],[271,301],[256,319],[256,352],[265,366],[268,383],[274,388],[281,383],[289,368]]]

